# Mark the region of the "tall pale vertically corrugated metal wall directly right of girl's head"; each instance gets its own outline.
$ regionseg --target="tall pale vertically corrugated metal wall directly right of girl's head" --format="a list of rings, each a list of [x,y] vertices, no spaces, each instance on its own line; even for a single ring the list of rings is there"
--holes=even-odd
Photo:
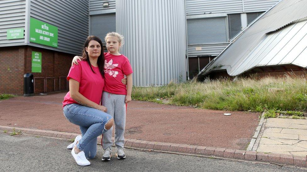
[[[116,30],[125,37],[135,86],[186,80],[183,0],[116,1]]]

